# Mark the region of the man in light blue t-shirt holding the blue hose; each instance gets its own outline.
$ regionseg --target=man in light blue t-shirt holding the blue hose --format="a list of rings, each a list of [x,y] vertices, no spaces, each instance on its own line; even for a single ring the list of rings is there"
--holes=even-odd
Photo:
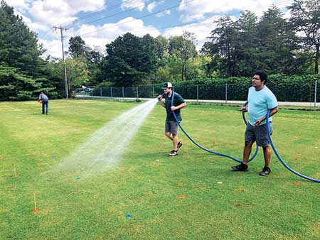
[[[233,166],[234,171],[246,171],[247,163],[252,151],[252,144],[256,141],[257,146],[263,149],[265,157],[265,167],[262,168],[260,175],[265,176],[271,173],[270,160],[271,149],[267,133],[266,124],[269,124],[272,133],[272,115],[279,110],[277,98],[265,86],[267,83],[267,74],[262,71],[255,72],[252,77],[252,87],[249,89],[247,97],[247,106],[242,107],[242,111],[247,111],[249,115],[249,122],[247,129],[245,129],[245,148],[243,149],[243,160],[240,165]],[[270,109],[269,123],[266,123],[267,111]]]

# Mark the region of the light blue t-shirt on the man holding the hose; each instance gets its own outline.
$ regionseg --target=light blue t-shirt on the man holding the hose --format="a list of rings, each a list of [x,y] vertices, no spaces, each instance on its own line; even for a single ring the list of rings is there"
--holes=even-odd
[[[247,94],[247,102],[247,113],[249,115],[249,124],[251,125],[254,125],[255,121],[267,115],[268,109],[278,106],[277,98],[267,86],[260,91],[256,91],[255,87],[250,87]],[[269,121],[272,121],[272,116],[269,118]],[[265,124],[265,121],[262,121],[260,125],[262,124]]]

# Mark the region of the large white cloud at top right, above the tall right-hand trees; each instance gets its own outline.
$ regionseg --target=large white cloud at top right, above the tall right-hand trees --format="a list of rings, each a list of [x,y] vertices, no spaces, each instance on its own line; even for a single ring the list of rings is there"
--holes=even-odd
[[[206,13],[228,13],[233,10],[250,10],[258,13],[260,16],[262,11],[266,11],[272,4],[283,8],[292,3],[292,1],[283,0],[182,0],[178,8],[179,11],[184,12],[181,16],[181,21],[188,22],[194,20],[201,20],[205,17]]]

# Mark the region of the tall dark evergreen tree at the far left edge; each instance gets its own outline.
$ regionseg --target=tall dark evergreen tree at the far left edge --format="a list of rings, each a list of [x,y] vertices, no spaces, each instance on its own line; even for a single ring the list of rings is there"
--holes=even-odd
[[[0,99],[26,100],[41,90],[53,90],[46,79],[46,62],[36,33],[14,15],[14,8],[0,3]]]

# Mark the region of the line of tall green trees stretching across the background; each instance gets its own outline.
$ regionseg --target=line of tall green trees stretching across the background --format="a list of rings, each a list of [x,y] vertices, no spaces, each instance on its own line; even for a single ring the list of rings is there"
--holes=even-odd
[[[284,18],[271,6],[259,18],[243,11],[238,19],[223,16],[200,51],[196,35],[156,38],[132,33],[105,45],[105,53],[90,48],[80,36],[69,40],[65,53],[68,89],[129,87],[159,82],[188,82],[201,78],[249,77],[268,74],[319,74],[320,2],[294,0]],[[63,61],[42,58],[43,45],[14,9],[0,6],[0,99],[33,99],[38,92],[65,97]]]

